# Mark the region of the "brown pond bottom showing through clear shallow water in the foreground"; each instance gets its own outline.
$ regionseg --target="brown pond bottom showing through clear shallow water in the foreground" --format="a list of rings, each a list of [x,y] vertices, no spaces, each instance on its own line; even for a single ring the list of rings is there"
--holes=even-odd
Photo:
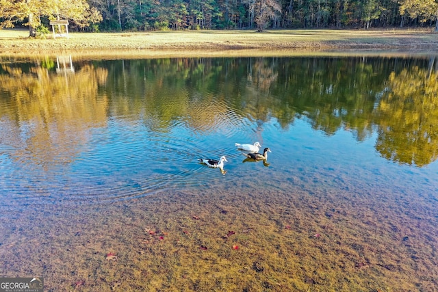
[[[43,276],[45,291],[437,287],[438,230],[426,202],[378,190],[246,189],[5,210],[0,274]]]

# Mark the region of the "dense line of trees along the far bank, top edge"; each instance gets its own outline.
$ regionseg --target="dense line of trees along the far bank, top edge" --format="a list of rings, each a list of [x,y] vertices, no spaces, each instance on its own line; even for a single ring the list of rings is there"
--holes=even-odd
[[[438,0],[0,0],[0,28],[77,31],[435,27]]]

